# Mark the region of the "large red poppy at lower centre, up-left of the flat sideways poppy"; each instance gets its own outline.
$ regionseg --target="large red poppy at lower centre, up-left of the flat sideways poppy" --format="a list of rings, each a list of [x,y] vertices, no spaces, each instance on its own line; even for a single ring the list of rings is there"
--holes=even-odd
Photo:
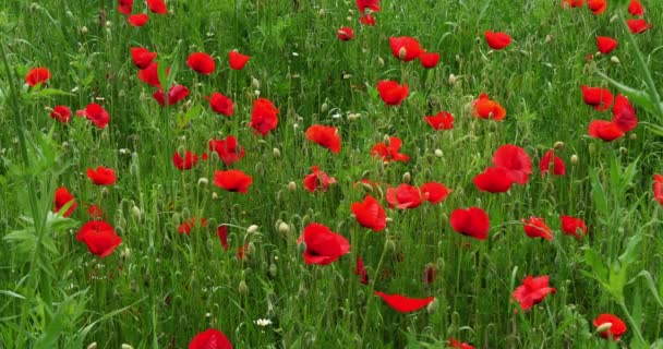
[[[317,222],[304,228],[298,243],[302,241],[306,246],[303,253],[306,264],[327,265],[350,252],[350,242],[343,236]]]

